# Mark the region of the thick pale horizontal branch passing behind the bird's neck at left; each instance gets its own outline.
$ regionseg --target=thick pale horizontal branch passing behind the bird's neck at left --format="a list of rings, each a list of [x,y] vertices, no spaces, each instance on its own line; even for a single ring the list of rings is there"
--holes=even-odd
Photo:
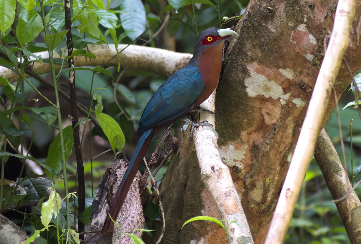
[[[118,50],[122,51],[127,45],[119,44]],[[114,44],[106,45],[88,45],[89,51],[92,52],[96,58],[92,59],[93,66],[117,66],[118,57]],[[64,50],[62,50],[64,53]],[[43,59],[49,58],[48,52],[34,53],[40,55]],[[54,58],[60,58],[57,52],[54,52]],[[120,67],[135,70],[151,71],[163,77],[169,77],[175,71],[188,63],[192,57],[189,53],[177,53],[160,48],[143,47],[138,45],[129,45],[120,53]],[[84,56],[75,56],[74,62],[77,66],[91,66],[90,59]],[[56,69],[60,69],[60,65],[55,65]],[[66,66],[64,66],[66,68]],[[35,62],[32,69],[39,74],[49,73],[51,67],[49,64]],[[0,67],[1,77],[9,80],[9,82],[16,82],[18,75],[5,67]],[[29,77],[29,75],[25,75]],[[0,86],[2,86],[0,84]]]

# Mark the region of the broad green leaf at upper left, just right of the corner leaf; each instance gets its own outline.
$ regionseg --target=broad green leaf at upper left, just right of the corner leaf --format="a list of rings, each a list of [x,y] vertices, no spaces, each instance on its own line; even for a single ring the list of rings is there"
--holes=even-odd
[[[29,12],[24,12],[16,26],[16,36],[23,46],[25,43],[34,40],[42,30],[43,21],[40,14],[29,16]]]

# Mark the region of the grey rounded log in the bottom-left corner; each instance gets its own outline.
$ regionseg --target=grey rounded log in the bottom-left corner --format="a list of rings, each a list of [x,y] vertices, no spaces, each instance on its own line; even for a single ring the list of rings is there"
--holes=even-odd
[[[25,243],[29,238],[25,231],[0,214],[0,244]],[[36,244],[32,241],[30,244]]]

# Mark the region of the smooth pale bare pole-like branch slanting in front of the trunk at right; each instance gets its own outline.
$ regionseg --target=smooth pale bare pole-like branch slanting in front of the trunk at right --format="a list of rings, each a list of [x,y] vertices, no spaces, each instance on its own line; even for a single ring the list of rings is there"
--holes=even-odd
[[[281,244],[286,236],[306,170],[314,153],[317,136],[321,131],[331,89],[340,69],[344,52],[348,47],[355,9],[355,0],[339,0],[338,2],[330,42],[319,70],[265,244]]]

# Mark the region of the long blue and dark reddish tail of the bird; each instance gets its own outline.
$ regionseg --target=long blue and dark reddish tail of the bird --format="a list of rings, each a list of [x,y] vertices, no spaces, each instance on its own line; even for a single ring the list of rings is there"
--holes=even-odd
[[[138,171],[138,166],[143,160],[145,151],[148,148],[149,142],[152,140],[153,134],[153,129],[150,129],[148,131],[145,131],[142,136],[140,136],[133,157],[130,160],[130,163],[124,173],[122,182],[120,183],[117,190],[117,194],[115,195],[112,205],[110,206],[109,214],[110,216],[112,216],[112,219],[114,219],[114,221],[116,221],[118,217],[119,211],[122,208],[125,197],[128,194],[129,188]],[[110,220],[108,215],[105,219],[103,230],[101,230],[101,235],[104,236],[106,232],[111,232],[113,230],[113,225],[114,223]]]

